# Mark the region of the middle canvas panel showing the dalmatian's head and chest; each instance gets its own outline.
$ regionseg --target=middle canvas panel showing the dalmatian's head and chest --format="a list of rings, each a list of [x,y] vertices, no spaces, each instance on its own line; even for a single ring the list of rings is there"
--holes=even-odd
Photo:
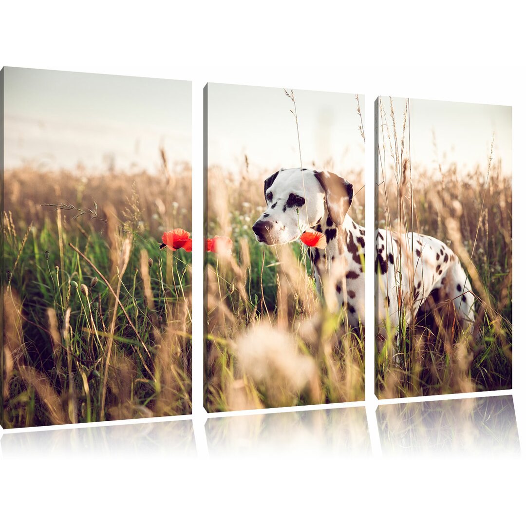
[[[363,97],[204,99],[205,408],[363,400]]]

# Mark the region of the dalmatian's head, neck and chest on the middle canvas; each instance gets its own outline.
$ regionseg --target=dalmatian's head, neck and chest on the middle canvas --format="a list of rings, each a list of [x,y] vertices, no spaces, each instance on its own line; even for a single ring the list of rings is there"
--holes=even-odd
[[[332,294],[332,310],[347,310],[351,329],[365,322],[365,230],[347,215],[352,195],[352,184],[330,171],[281,169],[265,180],[267,209],[252,226],[269,246],[311,229],[325,235],[325,249],[308,248],[316,287]]]

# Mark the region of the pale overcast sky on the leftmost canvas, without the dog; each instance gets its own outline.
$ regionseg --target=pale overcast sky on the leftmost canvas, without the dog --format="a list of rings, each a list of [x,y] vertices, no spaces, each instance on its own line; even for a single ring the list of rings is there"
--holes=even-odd
[[[4,70],[5,166],[89,170],[191,160],[191,83],[45,69]]]

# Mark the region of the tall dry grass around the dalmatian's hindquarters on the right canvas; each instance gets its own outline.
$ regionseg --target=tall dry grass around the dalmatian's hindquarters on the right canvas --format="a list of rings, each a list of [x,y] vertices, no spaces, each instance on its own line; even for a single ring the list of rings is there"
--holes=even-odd
[[[431,316],[400,325],[396,354],[393,330],[376,352],[380,398],[511,388],[512,362],[512,186],[493,158],[469,170],[449,163],[421,166],[410,161],[406,114],[396,129],[392,103],[378,108],[377,227],[417,231],[444,241],[466,270],[476,299],[473,335],[451,324],[448,305]],[[398,136],[397,136],[398,134]],[[491,137],[489,137],[491,138]],[[461,147],[461,146],[459,146]],[[400,315],[412,309],[399,300]],[[378,306],[381,308],[381,305]],[[377,326],[378,329],[378,326]]]

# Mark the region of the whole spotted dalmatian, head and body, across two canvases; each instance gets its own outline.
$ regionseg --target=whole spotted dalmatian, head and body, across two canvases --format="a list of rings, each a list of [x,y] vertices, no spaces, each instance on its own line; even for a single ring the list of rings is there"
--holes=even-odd
[[[323,287],[332,310],[347,309],[349,327],[356,328],[365,322],[365,229],[347,215],[352,195],[352,184],[329,171],[282,169],[265,180],[267,209],[252,229],[257,240],[268,245],[290,243],[308,229],[324,234],[325,250],[309,248],[317,288],[321,292]],[[437,290],[440,299],[453,301],[463,327],[472,325],[473,295],[458,257],[433,237],[402,237],[400,242],[386,230],[376,235],[380,336],[385,336],[387,319],[398,332],[403,298],[411,294],[417,312]],[[407,246],[413,246],[413,257]],[[402,276],[401,283],[395,275]],[[409,321],[411,311],[405,316]]]

